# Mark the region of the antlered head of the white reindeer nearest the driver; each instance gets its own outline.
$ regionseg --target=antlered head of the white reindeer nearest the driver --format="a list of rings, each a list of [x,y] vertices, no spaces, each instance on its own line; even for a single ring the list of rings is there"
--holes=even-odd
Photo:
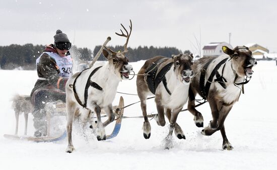
[[[115,33],[115,34],[127,38],[126,43],[124,44],[124,51],[123,52],[120,52],[120,51],[114,52],[111,49],[105,47],[105,49],[103,49],[103,55],[109,61],[110,66],[114,67],[115,74],[120,79],[129,79],[129,73],[133,71],[133,68],[131,65],[128,64],[129,60],[127,57],[125,57],[125,53],[128,52],[127,44],[129,41],[129,37],[131,35],[131,31],[132,31],[132,22],[130,20],[130,26],[129,26],[130,33],[127,32],[127,30],[125,29],[125,27],[122,24],[121,24],[121,26],[126,31],[127,35],[125,35],[122,32],[122,30],[120,30],[122,34],[118,34],[118,33]]]

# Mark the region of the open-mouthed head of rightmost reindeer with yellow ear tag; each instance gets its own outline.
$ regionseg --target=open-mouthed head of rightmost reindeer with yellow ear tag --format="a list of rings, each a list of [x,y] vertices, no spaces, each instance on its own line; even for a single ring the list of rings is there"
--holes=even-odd
[[[238,76],[252,76],[252,67],[257,64],[257,61],[255,58],[252,57],[252,52],[249,50],[248,47],[236,46],[232,50],[227,46],[223,46],[222,50],[224,53],[228,54],[231,59],[233,59],[233,70],[238,74]]]

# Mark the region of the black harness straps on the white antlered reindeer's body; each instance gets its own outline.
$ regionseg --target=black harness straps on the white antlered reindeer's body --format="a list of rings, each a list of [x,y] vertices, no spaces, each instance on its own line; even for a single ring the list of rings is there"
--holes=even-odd
[[[75,78],[74,80],[74,83],[73,84],[70,84],[70,87],[73,88],[73,92],[74,92],[74,96],[75,96],[75,99],[77,100],[77,102],[79,103],[79,105],[83,106],[83,108],[86,108],[87,109],[87,102],[88,102],[88,89],[89,87],[93,87],[95,89],[98,89],[100,91],[102,91],[103,89],[94,81],[91,81],[91,77],[93,76],[93,74],[99,69],[101,68],[102,66],[99,66],[97,68],[95,68],[91,73],[90,73],[90,76],[88,77],[88,80],[87,80],[87,83],[86,83],[86,87],[85,87],[85,92],[84,92],[84,98],[85,98],[85,103],[83,104],[78,96],[78,94],[76,93],[76,88],[75,88],[75,83],[76,83],[76,80],[77,78],[81,75],[81,73],[87,69],[84,69],[83,71],[81,71],[77,77]]]

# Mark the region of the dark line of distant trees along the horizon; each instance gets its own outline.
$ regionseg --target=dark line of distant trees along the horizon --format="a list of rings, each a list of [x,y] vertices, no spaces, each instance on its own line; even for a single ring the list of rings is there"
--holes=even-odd
[[[78,48],[73,45],[70,53],[77,64],[91,61],[93,56],[97,54],[101,45],[95,46],[94,50],[88,48]],[[113,51],[124,50],[123,46],[108,46]],[[12,44],[9,46],[0,46],[0,68],[1,69],[14,69],[21,67],[22,69],[33,70],[36,69],[36,59],[41,55],[45,49],[44,45],[17,45]],[[146,60],[151,57],[162,55],[171,57],[172,54],[182,53],[181,50],[175,47],[153,47],[153,46],[138,46],[137,48],[128,48],[126,56],[130,62],[138,60]],[[184,53],[190,53],[188,50]],[[100,55],[99,60],[106,60],[103,54]]]

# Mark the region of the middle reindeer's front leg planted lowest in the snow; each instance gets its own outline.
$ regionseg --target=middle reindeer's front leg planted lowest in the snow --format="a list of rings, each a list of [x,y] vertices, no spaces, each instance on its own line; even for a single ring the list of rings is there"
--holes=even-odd
[[[167,137],[165,138],[165,141],[166,141],[165,149],[169,149],[169,148],[173,147],[172,133],[176,126],[176,120],[177,120],[178,114],[180,113],[181,110],[182,110],[182,107],[172,110],[172,114],[170,117],[169,133],[168,133]]]

